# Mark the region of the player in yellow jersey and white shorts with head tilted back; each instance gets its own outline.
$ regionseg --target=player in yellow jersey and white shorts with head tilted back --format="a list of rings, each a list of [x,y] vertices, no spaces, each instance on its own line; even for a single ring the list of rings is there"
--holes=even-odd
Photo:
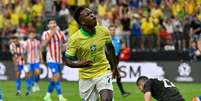
[[[64,64],[80,68],[79,91],[82,101],[97,101],[99,95],[101,101],[112,101],[112,77],[118,76],[118,70],[109,31],[97,26],[96,16],[88,8],[78,8],[74,19],[80,29],[68,40]],[[106,53],[109,54],[108,59]]]

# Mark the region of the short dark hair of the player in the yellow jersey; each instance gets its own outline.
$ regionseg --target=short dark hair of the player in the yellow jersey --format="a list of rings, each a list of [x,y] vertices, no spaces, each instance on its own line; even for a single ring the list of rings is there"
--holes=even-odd
[[[80,13],[82,12],[82,10],[84,10],[85,7],[78,7],[74,14],[73,14],[73,18],[75,19],[75,21],[80,24]]]

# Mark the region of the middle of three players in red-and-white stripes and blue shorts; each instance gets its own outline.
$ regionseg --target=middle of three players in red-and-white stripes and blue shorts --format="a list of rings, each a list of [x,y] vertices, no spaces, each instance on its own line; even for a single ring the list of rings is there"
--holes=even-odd
[[[29,71],[32,75],[32,91],[39,91],[38,81],[40,79],[40,41],[36,39],[34,32],[29,33],[29,39],[26,40],[24,47],[27,53],[27,63],[29,64]]]

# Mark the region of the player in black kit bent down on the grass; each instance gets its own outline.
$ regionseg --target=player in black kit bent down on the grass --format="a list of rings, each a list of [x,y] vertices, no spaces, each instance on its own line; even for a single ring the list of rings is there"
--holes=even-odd
[[[137,86],[144,93],[144,101],[151,101],[151,96],[158,101],[185,101],[175,85],[167,79],[149,79],[141,76]]]

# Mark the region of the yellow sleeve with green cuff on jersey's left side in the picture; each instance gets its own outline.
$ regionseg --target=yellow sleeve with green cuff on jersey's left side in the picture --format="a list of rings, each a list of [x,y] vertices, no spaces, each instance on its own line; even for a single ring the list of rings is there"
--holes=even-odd
[[[76,41],[72,38],[68,40],[65,56],[67,58],[75,58],[77,47],[76,47]]]

